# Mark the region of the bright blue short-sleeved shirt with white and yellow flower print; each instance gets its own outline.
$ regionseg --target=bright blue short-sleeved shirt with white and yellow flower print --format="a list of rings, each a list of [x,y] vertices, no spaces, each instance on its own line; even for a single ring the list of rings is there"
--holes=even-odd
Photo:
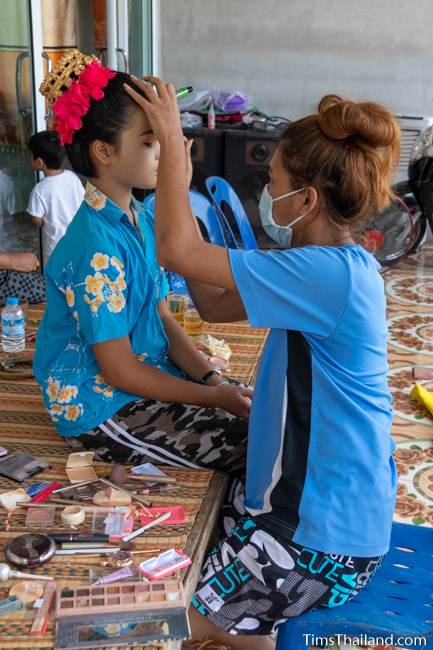
[[[47,307],[34,373],[62,436],[78,436],[138,399],[107,384],[93,344],[128,336],[141,362],[181,376],[167,358],[157,309],[169,287],[156,258],[153,216],[134,199],[131,207],[138,229],[88,183],[45,271]]]

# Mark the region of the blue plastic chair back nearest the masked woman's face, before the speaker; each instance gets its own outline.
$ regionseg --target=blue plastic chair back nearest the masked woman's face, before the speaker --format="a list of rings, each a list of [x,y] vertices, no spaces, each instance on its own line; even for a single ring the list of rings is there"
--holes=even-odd
[[[242,205],[238,195],[232,186],[227,183],[224,178],[220,178],[219,176],[209,176],[209,178],[206,179],[206,189],[216,207],[218,216],[220,218],[222,216],[227,224],[228,221],[227,215],[224,213],[224,203],[229,206],[235,218],[236,225],[241,236],[242,245],[245,250],[255,250],[258,248],[257,241],[254,237],[249,219],[245,213],[244,206]],[[233,231],[231,228],[230,232],[233,236]]]

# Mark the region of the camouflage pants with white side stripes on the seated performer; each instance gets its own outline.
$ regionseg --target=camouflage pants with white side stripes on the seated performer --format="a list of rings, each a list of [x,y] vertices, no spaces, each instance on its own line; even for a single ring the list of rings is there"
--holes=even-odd
[[[106,462],[204,467],[243,476],[247,434],[247,423],[222,409],[140,399],[65,440]]]

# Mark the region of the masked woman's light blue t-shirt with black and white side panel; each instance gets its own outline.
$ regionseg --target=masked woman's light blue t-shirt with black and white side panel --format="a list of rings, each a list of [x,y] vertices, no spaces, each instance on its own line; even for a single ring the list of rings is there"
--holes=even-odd
[[[247,510],[319,551],[385,553],[397,476],[378,263],[356,245],[229,254],[251,325],[270,328],[250,415]]]

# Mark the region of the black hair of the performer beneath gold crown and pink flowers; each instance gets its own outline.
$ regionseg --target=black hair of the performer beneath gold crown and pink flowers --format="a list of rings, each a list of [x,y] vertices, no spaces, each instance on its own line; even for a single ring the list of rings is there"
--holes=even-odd
[[[115,145],[122,129],[127,127],[132,111],[137,104],[123,86],[127,83],[140,95],[141,90],[131,81],[129,74],[117,72],[103,89],[104,97],[90,100],[90,108],[81,119],[82,127],[75,131],[72,144],[65,144],[65,151],[72,169],[82,176],[96,176],[90,159],[90,145],[94,140],[102,140]]]

